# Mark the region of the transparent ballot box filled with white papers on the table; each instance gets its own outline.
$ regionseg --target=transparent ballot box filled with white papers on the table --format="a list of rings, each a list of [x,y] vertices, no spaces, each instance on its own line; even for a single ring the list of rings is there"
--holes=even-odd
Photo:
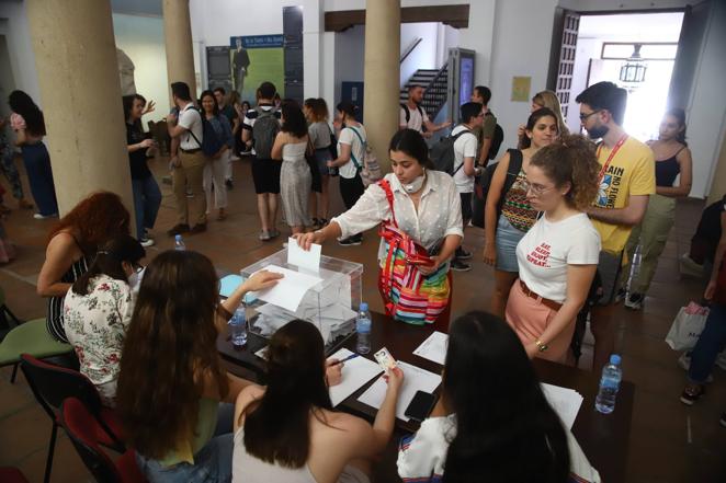
[[[287,322],[303,319],[315,324],[330,346],[355,330],[362,264],[321,255],[316,271],[288,263],[284,249],[242,268],[240,275],[246,279],[261,269],[285,276],[272,289],[246,299],[250,332],[270,337]]]

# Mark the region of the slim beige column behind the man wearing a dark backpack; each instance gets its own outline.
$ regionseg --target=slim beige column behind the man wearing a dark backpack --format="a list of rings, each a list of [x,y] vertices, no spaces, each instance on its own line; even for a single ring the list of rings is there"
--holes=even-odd
[[[189,0],[162,0],[161,8],[163,11],[163,39],[167,48],[167,78],[169,83],[186,82],[192,97],[196,97]],[[171,95],[171,91],[169,95]]]

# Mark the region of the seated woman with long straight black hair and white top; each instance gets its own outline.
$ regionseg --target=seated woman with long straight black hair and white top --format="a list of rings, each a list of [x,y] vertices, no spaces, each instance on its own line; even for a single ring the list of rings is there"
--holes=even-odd
[[[449,333],[441,398],[398,452],[404,482],[599,482],[499,318],[469,312]]]

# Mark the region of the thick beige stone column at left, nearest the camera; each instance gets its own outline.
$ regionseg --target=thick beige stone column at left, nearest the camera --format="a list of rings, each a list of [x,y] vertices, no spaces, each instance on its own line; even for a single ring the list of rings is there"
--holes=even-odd
[[[60,215],[92,192],[118,194],[134,216],[109,0],[27,0]]]

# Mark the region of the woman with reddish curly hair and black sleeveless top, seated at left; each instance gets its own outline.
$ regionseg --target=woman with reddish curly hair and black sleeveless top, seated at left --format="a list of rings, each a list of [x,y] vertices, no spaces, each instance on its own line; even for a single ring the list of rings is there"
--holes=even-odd
[[[50,230],[37,294],[48,297],[46,325],[53,337],[68,342],[63,302],[68,289],[90,266],[99,246],[128,234],[128,210],[114,193],[99,192],[81,200]]]

